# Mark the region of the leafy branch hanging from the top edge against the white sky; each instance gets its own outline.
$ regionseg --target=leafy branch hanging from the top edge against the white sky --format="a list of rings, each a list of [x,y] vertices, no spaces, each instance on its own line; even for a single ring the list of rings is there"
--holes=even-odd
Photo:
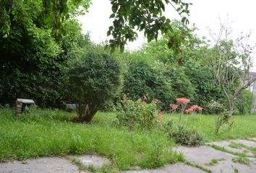
[[[157,40],[159,35],[168,35],[168,47],[179,50],[181,37],[176,37],[171,20],[163,15],[166,6],[172,6],[182,18],[182,23],[188,24],[189,3],[183,0],[111,0],[113,25],[109,27],[108,35],[112,50],[124,50],[127,41],[137,39],[137,31],[143,31],[148,42]]]

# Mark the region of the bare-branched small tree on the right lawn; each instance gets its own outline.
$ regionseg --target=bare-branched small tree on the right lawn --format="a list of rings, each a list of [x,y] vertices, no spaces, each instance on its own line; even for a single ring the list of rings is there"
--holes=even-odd
[[[256,80],[254,76],[249,76],[255,46],[250,44],[250,33],[232,39],[231,27],[226,24],[221,24],[218,35],[210,35],[215,43],[212,57],[214,74],[226,97],[231,116],[239,95]]]

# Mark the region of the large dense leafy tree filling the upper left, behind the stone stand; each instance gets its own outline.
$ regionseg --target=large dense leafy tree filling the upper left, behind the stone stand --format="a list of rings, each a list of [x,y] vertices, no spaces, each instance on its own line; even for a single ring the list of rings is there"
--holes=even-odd
[[[73,17],[90,1],[75,2],[0,1],[1,103],[25,97],[59,105],[64,68],[85,40]]]

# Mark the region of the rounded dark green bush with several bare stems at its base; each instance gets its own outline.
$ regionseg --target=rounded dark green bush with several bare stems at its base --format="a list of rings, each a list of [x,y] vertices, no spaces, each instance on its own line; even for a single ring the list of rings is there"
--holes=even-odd
[[[108,54],[92,51],[70,68],[69,83],[79,120],[90,122],[93,115],[119,92],[121,67]]]

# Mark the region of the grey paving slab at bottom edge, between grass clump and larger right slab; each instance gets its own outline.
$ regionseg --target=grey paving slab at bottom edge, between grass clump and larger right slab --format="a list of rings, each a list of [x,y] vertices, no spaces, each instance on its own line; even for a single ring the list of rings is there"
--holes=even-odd
[[[138,171],[125,171],[121,173],[205,173],[201,169],[191,167],[187,164],[177,163],[177,164],[166,164],[165,167],[159,169],[144,169]]]

